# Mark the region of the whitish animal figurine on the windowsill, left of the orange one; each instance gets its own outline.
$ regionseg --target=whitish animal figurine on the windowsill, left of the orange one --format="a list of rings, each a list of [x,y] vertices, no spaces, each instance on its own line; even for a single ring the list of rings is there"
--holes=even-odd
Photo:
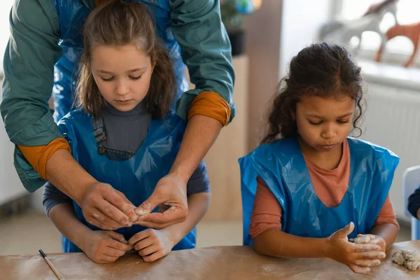
[[[328,22],[321,27],[319,39],[348,44],[350,39],[356,36],[359,38],[359,43],[356,45],[354,51],[357,52],[360,49],[362,33],[364,31],[374,31],[381,36],[383,48],[386,42],[386,36],[379,29],[379,24],[386,13],[391,13],[395,18],[395,22],[397,22],[397,3],[398,0],[385,0],[372,4],[361,18]]]

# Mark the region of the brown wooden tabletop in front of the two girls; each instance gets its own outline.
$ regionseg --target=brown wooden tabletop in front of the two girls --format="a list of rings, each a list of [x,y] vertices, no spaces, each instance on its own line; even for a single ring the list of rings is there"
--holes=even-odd
[[[269,258],[246,246],[196,248],[172,252],[153,263],[143,262],[136,253],[128,253],[116,262],[98,265],[83,253],[48,254],[64,279],[144,279],[144,280],[259,280],[259,279],[420,279],[420,269],[410,272],[391,262],[398,248],[420,252],[420,241],[395,244],[387,258],[369,274],[354,274],[346,266],[330,259]],[[55,280],[39,254],[0,256],[0,279]]]

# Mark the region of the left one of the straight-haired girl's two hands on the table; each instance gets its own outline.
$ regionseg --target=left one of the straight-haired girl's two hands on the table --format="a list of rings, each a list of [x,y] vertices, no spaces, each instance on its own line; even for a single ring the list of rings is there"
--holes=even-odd
[[[85,238],[82,250],[94,262],[115,262],[125,255],[132,246],[127,244],[123,235],[107,230],[94,230]]]

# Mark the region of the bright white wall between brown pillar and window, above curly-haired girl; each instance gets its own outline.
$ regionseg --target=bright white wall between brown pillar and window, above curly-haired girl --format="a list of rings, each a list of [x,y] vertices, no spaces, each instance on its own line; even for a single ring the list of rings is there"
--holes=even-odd
[[[316,41],[318,28],[330,18],[334,0],[283,0],[280,40],[280,77],[290,59]]]

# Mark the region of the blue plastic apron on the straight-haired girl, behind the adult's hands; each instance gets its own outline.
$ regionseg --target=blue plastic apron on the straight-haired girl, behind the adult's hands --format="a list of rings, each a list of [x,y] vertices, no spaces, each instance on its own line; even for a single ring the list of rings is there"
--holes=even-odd
[[[83,110],[71,111],[58,123],[59,130],[69,141],[73,158],[90,174],[102,183],[109,183],[113,188],[124,193],[134,205],[140,205],[151,196],[162,177],[169,173],[186,127],[186,122],[170,114],[165,120],[154,119],[149,127],[146,139],[137,153],[128,160],[109,160],[99,153],[99,146],[94,136],[92,119]],[[100,228],[87,223],[82,209],[73,202],[76,216],[92,230]],[[116,232],[130,239],[137,232],[146,230],[139,225],[120,228]],[[193,229],[173,250],[195,247],[195,229]],[[64,252],[80,252],[80,248],[63,237]]]

